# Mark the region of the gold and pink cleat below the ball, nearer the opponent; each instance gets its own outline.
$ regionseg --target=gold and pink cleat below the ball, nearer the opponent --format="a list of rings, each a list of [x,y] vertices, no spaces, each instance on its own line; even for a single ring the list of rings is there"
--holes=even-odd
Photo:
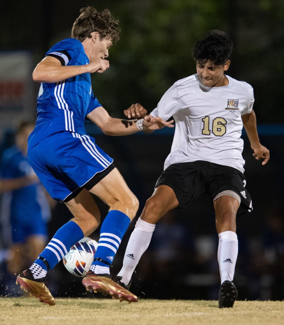
[[[104,292],[112,296],[114,299],[119,299],[120,302],[127,301],[128,303],[136,303],[138,298],[135,294],[120,286],[110,275],[96,275],[89,271],[82,280],[87,291]]]

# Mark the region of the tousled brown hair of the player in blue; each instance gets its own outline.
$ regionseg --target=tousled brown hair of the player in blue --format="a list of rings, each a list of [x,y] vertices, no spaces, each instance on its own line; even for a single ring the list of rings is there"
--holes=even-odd
[[[91,37],[92,32],[98,32],[100,40],[105,37],[113,43],[119,40],[118,19],[115,20],[108,9],[100,12],[88,6],[80,9],[80,13],[73,24],[71,37],[83,42]]]

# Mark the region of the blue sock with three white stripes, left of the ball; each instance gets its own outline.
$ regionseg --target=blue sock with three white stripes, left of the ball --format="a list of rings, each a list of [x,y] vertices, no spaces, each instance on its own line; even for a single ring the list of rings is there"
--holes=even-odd
[[[51,270],[69,252],[70,248],[83,237],[82,229],[74,221],[69,221],[57,230],[39,256],[47,260],[49,270]],[[47,266],[43,260],[38,258],[34,263],[47,271]]]

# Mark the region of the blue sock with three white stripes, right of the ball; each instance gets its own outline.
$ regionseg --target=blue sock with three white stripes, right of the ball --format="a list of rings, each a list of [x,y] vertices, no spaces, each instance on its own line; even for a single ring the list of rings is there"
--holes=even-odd
[[[94,258],[101,258],[109,264],[112,264],[115,253],[129,223],[130,218],[123,212],[118,210],[110,211],[101,225],[99,245]],[[92,265],[107,266],[101,261],[94,261]]]

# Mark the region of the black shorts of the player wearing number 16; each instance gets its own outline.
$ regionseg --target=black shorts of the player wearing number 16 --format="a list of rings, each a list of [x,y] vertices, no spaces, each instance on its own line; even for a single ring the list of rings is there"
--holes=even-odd
[[[202,160],[175,163],[163,171],[156,187],[159,185],[173,189],[179,208],[188,207],[204,193],[213,200],[219,193],[230,190],[240,197],[237,215],[252,210],[250,193],[245,189],[245,175],[233,167]]]

